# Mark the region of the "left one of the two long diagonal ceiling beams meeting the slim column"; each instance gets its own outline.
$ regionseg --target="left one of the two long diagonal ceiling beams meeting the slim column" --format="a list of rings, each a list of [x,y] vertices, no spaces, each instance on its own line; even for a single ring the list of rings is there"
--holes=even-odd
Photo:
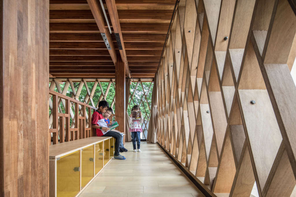
[[[91,12],[94,16],[94,19],[96,20],[96,24],[99,27],[100,33],[105,33],[106,39],[108,40],[109,45],[110,45],[110,49],[108,51],[110,53],[110,56],[113,60],[114,65],[115,65],[115,63],[117,61],[116,51],[114,48],[114,44],[112,42],[110,32],[109,32],[109,30],[107,30],[104,27],[105,20],[103,18],[103,14],[101,13],[101,9],[99,7],[99,4],[96,0],[87,0],[87,3],[89,4],[89,7],[90,7]],[[103,37],[103,39],[104,39],[104,37]]]

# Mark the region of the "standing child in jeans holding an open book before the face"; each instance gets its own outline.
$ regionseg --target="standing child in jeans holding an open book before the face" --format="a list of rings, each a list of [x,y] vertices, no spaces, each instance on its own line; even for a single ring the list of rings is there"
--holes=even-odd
[[[131,109],[132,111],[139,111],[139,105],[134,105],[133,108]],[[137,152],[136,150],[136,141],[137,141],[137,148],[138,148],[138,152],[141,152],[140,150],[140,143],[141,143],[141,139],[140,139],[140,133],[143,132],[142,131],[142,123],[144,122],[142,113],[141,114],[141,118],[136,119],[135,115],[131,114],[130,118],[128,119],[128,123],[130,124],[130,129],[129,131],[131,132],[131,138],[133,141],[133,152]]]

